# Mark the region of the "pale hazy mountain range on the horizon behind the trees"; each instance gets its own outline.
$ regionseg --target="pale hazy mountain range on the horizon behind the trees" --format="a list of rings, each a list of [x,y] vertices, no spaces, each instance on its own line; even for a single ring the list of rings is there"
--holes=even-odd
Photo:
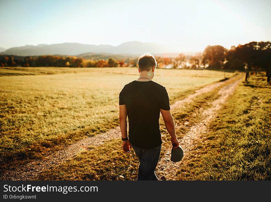
[[[13,47],[2,51],[2,55],[80,55],[84,53],[107,53],[121,55],[140,55],[145,52],[155,54],[175,52],[172,48],[157,44],[143,43],[138,41],[124,42],[119,46],[111,45],[89,45],[82,43],[58,43],[58,44],[39,44],[37,46],[26,45],[21,47]]]

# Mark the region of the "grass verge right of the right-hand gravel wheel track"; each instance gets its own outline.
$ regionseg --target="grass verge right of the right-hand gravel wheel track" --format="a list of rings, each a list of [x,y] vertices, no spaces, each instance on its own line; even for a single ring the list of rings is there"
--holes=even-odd
[[[180,180],[271,180],[271,86],[264,73],[241,83],[209,126],[212,132],[178,171]]]

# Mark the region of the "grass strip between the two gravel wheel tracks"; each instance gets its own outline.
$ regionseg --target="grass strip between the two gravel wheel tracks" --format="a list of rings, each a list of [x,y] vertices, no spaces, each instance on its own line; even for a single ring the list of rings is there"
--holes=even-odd
[[[181,126],[181,132],[177,131],[178,137],[184,135],[189,130],[189,127],[201,119],[200,115],[194,116],[194,113],[199,111],[200,108],[210,107],[210,102],[218,98],[219,95],[217,93],[219,89],[220,87],[203,93],[185,108],[176,108],[172,111],[176,125]],[[184,124],[187,121],[189,123]],[[160,128],[163,140],[160,157],[163,157],[164,148],[168,148],[171,142],[162,118],[160,118]],[[139,161],[133,150],[131,154],[124,154],[121,143],[120,139],[114,139],[98,147],[90,147],[88,151],[84,151],[62,164],[44,170],[38,179],[136,180]],[[119,175],[122,175],[124,178],[120,178]]]

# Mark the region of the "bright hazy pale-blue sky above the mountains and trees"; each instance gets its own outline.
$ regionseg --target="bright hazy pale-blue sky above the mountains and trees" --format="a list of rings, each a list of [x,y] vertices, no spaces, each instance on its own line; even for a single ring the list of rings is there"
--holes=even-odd
[[[0,47],[156,42],[178,51],[271,40],[271,0],[0,0]]]

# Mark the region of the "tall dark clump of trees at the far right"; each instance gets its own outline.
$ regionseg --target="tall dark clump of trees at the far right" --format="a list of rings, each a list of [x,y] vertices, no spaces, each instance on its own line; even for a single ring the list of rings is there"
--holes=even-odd
[[[271,62],[271,43],[250,42],[232,46],[207,46],[203,52],[202,63],[208,69],[266,70]]]

